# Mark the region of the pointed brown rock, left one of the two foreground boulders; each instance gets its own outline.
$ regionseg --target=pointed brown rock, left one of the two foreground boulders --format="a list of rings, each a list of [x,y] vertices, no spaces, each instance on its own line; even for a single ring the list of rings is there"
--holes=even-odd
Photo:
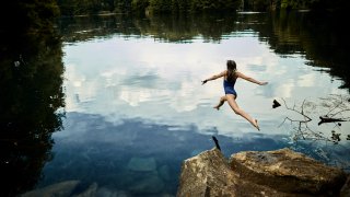
[[[187,197],[242,197],[288,196],[265,186],[245,182],[235,174],[228,160],[214,148],[185,160],[182,165],[176,196]]]

